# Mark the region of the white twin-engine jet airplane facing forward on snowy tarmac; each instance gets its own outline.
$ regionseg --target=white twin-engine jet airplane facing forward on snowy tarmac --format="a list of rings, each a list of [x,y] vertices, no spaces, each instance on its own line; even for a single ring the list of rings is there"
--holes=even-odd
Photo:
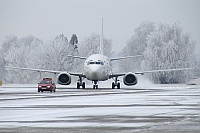
[[[77,89],[80,89],[80,87],[85,89],[85,82],[83,82],[85,78],[93,82],[93,89],[98,89],[99,81],[106,81],[111,78],[114,80],[114,82],[112,82],[112,85],[111,85],[112,89],[114,89],[115,87],[117,87],[117,89],[120,89],[120,82],[118,80],[118,77],[120,76],[123,76],[123,83],[125,85],[131,86],[131,85],[136,85],[138,83],[138,79],[136,76],[137,74],[163,72],[163,71],[182,71],[182,70],[194,69],[194,68],[178,68],[178,69],[151,70],[151,71],[128,72],[128,73],[113,73],[112,72],[112,67],[111,67],[112,61],[141,57],[141,56],[142,55],[109,58],[103,55],[103,19],[102,19],[102,36],[101,36],[99,54],[93,54],[93,55],[90,55],[89,57],[68,55],[68,57],[85,60],[83,73],[63,72],[63,71],[44,70],[44,69],[32,69],[32,68],[19,68],[19,67],[11,67],[11,66],[5,66],[5,68],[55,73],[55,74],[58,74],[57,82],[58,84],[61,84],[61,85],[71,84],[71,76],[78,76],[79,80],[77,81]]]

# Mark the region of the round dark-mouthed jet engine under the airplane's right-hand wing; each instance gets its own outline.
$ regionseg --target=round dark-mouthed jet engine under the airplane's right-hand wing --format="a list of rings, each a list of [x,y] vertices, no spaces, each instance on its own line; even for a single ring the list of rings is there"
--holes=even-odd
[[[137,77],[135,74],[129,72],[123,78],[124,84],[127,86],[136,85],[137,84]]]

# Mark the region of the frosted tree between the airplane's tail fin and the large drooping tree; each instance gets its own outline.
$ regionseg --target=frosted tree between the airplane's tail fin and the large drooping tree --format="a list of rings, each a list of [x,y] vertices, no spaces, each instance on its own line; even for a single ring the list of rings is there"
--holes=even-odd
[[[134,35],[127,42],[127,45],[122,49],[120,56],[142,55],[147,47],[147,37],[155,29],[155,23],[143,22],[134,31]],[[121,71],[140,71],[140,65],[143,58],[129,58],[119,61]],[[126,64],[126,65],[124,65]]]

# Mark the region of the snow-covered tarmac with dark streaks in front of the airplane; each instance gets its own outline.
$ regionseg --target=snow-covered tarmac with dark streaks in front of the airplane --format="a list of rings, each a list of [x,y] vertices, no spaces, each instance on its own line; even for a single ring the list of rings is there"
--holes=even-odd
[[[165,127],[165,131],[200,132],[197,85],[144,82],[122,89],[109,89],[110,85],[99,90],[78,90],[75,85],[58,88],[56,93],[37,93],[37,85],[4,84],[0,87],[0,131],[54,127],[145,132]],[[183,126],[186,122],[188,128]]]

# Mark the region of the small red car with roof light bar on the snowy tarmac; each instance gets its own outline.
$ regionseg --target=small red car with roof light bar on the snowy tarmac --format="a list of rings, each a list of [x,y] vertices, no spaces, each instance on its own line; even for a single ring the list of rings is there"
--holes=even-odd
[[[43,80],[38,83],[38,92],[50,91],[56,92],[56,84],[52,78],[43,78]]]

